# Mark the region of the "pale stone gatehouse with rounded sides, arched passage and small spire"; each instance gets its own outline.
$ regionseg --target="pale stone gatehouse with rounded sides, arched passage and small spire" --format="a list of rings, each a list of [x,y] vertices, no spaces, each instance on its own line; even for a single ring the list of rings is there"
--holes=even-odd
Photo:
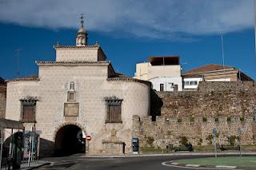
[[[36,61],[38,75],[7,81],[6,119],[41,133],[41,155],[132,152],[132,117],[150,114],[150,82],[116,73],[87,44],[82,19],[76,45],[54,49],[56,61]]]

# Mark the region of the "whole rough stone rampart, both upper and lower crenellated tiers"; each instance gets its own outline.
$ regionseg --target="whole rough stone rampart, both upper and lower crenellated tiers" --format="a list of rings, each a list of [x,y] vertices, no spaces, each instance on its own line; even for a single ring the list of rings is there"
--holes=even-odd
[[[218,143],[230,144],[242,128],[242,144],[255,144],[255,97],[254,81],[200,82],[197,91],[151,91],[151,116],[134,116],[133,136],[145,147],[179,144],[182,137],[208,145],[217,128]]]

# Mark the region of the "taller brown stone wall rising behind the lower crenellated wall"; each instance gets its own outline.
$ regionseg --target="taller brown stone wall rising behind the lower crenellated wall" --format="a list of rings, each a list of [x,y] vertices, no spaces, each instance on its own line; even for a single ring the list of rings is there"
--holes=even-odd
[[[256,114],[256,83],[200,82],[198,91],[152,92],[152,116],[235,116]]]

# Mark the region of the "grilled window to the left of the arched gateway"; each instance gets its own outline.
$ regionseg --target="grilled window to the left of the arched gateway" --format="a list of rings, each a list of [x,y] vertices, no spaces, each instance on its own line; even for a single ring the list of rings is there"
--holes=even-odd
[[[35,122],[35,106],[36,101],[22,101],[22,113],[21,121],[22,122]]]

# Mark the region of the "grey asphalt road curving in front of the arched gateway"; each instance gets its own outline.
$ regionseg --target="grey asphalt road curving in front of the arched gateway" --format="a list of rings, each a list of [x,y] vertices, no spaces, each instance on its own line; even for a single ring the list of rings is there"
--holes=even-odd
[[[46,165],[38,169],[146,169],[146,170],[182,170],[188,168],[177,168],[162,165],[162,162],[191,158],[200,156],[150,156],[130,158],[86,158],[81,155],[55,157],[50,160],[54,164]],[[203,168],[201,168],[203,169]]]

